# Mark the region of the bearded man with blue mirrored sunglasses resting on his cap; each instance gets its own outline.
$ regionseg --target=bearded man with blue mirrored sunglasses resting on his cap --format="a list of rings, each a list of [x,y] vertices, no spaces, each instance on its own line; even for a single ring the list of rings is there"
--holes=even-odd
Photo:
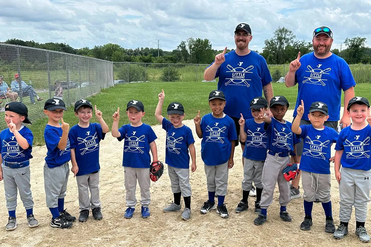
[[[328,27],[319,27],[313,31],[313,52],[305,54],[290,63],[289,72],[285,76],[286,87],[298,83],[298,98],[295,109],[304,102],[310,106],[314,101],[322,101],[328,105],[329,118],[325,126],[336,130],[340,120],[341,90],[344,91],[344,114],[340,120],[343,128],[350,125],[347,106],[354,97],[355,81],[348,64],[341,57],[331,53],[332,31]],[[311,124],[308,119],[309,107],[304,109],[300,125]],[[294,118],[296,117],[294,110]],[[296,145],[298,161],[303,152],[303,142]],[[292,180],[291,198],[300,198],[300,176]]]

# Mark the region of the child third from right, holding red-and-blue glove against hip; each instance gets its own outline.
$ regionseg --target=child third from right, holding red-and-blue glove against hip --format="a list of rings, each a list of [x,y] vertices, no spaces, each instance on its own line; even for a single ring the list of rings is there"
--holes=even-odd
[[[279,188],[279,216],[283,221],[291,221],[286,206],[290,202],[290,184],[282,174],[282,170],[290,163],[290,155],[295,157],[295,144],[300,142],[291,131],[291,123],[284,120],[289,101],[284,96],[275,96],[269,102],[270,111],[273,117],[264,116],[263,110],[258,119],[263,120],[264,130],[267,133],[267,158],[263,167],[262,184],[263,192],[260,200],[261,211],[254,224],[261,225],[267,220],[267,208],[273,201],[273,192],[276,184]]]

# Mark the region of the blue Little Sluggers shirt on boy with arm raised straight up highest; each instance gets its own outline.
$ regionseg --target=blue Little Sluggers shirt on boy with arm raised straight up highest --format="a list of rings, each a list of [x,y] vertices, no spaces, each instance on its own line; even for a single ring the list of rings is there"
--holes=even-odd
[[[183,124],[180,128],[167,119],[162,119],[162,128],[166,130],[165,163],[176,168],[189,168],[188,146],[194,143],[192,130]]]

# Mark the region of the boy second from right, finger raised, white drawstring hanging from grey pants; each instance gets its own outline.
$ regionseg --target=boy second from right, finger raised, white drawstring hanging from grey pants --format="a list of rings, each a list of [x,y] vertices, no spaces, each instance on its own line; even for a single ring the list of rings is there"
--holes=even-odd
[[[305,217],[300,225],[301,230],[311,230],[312,208],[318,194],[326,215],[325,232],[334,233],[335,225],[332,218],[331,206],[331,174],[330,161],[331,144],[336,143],[339,134],[333,128],[324,126],[328,119],[328,107],[325,103],[316,101],[309,107],[309,125],[300,125],[305,112],[303,100],[298,107],[297,116],[292,123],[293,133],[300,135],[304,140],[303,154],[300,161],[302,187],[304,190]]]

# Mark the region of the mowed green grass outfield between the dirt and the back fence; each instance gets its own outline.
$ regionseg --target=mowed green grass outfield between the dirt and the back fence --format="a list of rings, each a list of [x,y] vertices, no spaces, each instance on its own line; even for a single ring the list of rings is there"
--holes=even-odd
[[[103,113],[103,118],[111,129],[112,114],[121,109],[121,119],[119,126],[127,124],[128,118],[125,114],[126,104],[129,100],[141,100],[145,107],[145,116],[143,122],[155,125],[159,124],[154,116],[158,103],[158,93],[161,89],[165,91],[165,103],[163,113],[166,114],[166,107],[172,101],[179,101],[184,105],[185,119],[193,119],[198,110],[201,116],[210,112],[207,98],[210,91],[216,89],[216,83],[200,82],[157,82],[157,83],[130,83],[119,84],[109,89],[102,90],[102,93],[89,97],[93,104]],[[297,86],[287,88],[284,83],[273,83],[274,95],[284,95],[290,102],[290,109],[293,109],[296,102]],[[355,94],[371,99],[371,90],[369,84],[358,84],[355,87]],[[342,102],[342,104],[344,104]],[[78,123],[77,117],[73,113],[73,107],[69,107],[65,112],[63,120],[70,124],[70,127]],[[93,116],[92,121],[96,121]],[[39,119],[30,126],[35,139],[34,145],[44,145],[44,128],[47,124],[47,118]]]

